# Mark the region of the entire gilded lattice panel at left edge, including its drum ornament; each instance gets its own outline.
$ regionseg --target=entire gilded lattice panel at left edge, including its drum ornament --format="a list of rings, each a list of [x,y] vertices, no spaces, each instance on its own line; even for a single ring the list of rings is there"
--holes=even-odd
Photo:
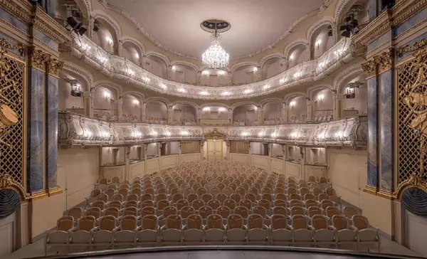
[[[0,38],[0,189],[15,189],[28,199],[23,183],[23,78],[25,63],[8,55],[9,49],[24,51]]]

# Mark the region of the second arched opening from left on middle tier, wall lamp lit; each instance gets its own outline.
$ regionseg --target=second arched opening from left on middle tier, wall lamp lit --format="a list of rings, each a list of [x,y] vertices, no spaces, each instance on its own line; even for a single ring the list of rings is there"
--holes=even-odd
[[[118,93],[113,88],[99,85],[93,90],[93,115],[108,120],[117,119]]]

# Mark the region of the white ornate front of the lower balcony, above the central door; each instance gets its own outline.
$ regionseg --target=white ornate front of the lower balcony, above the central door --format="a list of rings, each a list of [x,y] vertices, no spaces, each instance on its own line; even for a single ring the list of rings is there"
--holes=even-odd
[[[58,142],[79,145],[142,144],[147,142],[201,140],[214,131],[227,140],[274,142],[315,146],[367,146],[367,117],[353,117],[321,124],[253,127],[202,127],[106,122],[60,112]]]

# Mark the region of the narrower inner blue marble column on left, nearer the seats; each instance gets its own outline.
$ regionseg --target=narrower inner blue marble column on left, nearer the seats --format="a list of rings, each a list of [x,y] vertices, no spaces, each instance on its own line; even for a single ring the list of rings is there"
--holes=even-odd
[[[47,89],[48,188],[57,186],[58,169],[58,78],[49,75]]]

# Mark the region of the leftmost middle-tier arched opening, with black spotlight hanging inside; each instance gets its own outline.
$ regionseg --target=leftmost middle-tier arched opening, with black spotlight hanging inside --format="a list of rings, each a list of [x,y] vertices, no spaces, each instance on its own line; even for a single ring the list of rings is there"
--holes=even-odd
[[[83,92],[88,90],[89,85],[85,82],[79,75],[64,70],[60,72],[58,110],[88,115],[88,104],[85,104]],[[74,95],[71,93],[72,90],[75,90]]]

